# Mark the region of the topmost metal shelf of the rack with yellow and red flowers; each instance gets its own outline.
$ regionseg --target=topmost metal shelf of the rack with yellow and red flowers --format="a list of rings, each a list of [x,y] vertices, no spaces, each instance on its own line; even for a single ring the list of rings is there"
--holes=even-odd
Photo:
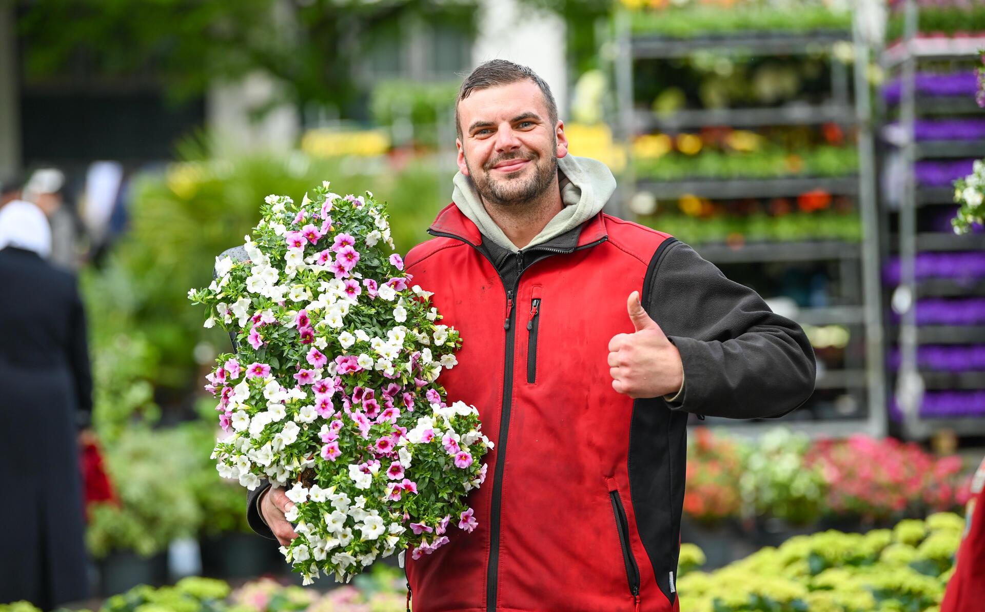
[[[836,42],[850,41],[848,30],[787,33],[776,31],[742,32],[693,38],[673,38],[659,34],[634,34],[630,48],[634,59],[671,59],[687,57],[695,51],[750,55],[810,55]]]

